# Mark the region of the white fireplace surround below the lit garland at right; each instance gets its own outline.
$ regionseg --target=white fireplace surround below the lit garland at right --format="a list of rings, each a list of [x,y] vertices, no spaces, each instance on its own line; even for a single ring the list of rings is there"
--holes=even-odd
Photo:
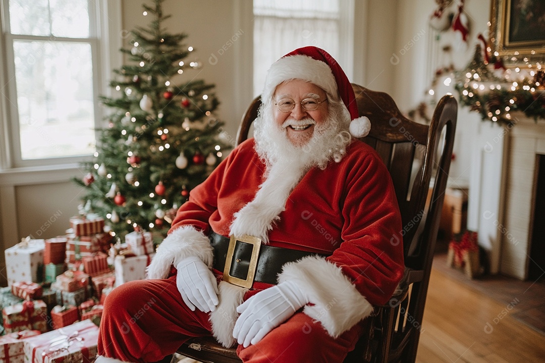
[[[545,121],[513,113],[513,126],[483,122],[471,168],[468,228],[479,232],[491,273],[528,276],[536,156],[545,155]]]

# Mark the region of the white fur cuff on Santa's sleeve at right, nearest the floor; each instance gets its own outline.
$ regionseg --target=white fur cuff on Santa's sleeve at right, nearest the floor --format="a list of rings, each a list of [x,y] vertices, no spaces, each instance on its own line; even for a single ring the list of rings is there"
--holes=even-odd
[[[278,275],[278,283],[283,281],[294,282],[306,294],[313,305],[306,305],[303,312],[322,323],[334,338],[373,311],[373,306],[356,290],[341,268],[320,257],[286,263]]]

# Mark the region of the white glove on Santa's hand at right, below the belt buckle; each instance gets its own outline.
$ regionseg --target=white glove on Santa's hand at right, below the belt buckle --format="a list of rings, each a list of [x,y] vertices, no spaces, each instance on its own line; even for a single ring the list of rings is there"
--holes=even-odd
[[[237,307],[240,316],[233,337],[244,348],[256,344],[306,303],[305,294],[292,281],[260,291]]]

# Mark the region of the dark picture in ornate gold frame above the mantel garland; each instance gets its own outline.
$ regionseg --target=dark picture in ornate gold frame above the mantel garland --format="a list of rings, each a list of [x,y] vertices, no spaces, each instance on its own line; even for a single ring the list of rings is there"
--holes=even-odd
[[[545,59],[545,1],[492,0],[490,44],[509,64]]]

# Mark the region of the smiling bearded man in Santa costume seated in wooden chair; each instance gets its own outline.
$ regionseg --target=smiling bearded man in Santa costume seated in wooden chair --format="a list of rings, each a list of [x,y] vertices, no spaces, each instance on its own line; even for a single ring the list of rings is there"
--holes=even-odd
[[[244,362],[341,362],[395,290],[396,195],[353,137],[370,125],[341,67],[300,48],[270,67],[261,97],[255,137],[191,191],[148,279],[108,295],[97,363],[160,361],[209,335]]]

